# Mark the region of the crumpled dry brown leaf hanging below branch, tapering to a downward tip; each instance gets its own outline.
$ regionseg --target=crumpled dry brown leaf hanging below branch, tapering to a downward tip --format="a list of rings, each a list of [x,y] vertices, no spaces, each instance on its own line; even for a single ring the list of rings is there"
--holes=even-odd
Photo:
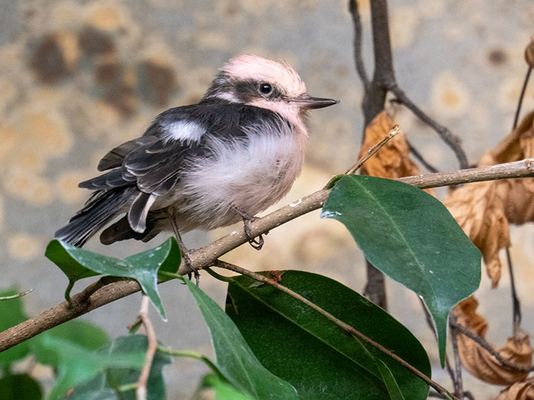
[[[486,154],[481,165],[493,165]],[[510,230],[505,205],[499,196],[500,182],[470,183],[449,193],[444,201],[448,211],[482,253],[486,273],[496,287],[501,274],[499,251],[510,245]]]

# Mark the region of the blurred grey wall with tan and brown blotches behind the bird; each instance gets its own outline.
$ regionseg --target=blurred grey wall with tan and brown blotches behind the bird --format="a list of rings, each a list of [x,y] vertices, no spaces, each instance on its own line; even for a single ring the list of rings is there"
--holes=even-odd
[[[370,68],[367,2],[361,10]],[[526,71],[522,53],[533,34],[532,1],[392,0],[390,12],[398,82],[462,137],[470,161],[476,162],[511,127]],[[216,68],[233,55],[284,59],[310,93],[342,99],[336,107],[314,112],[307,164],[288,201],[319,189],[357,158],[361,85],[345,0],[4,0],[0,26],[0,287],[35,288],[25,297],[31,315],[62,300],[66,278],[43,253],[53,232],[88,195],[77,183],[95,174],[109,148],[140,135],[157,113],[198,101]],[[534,105],[532,88],[524,109]],[[452,153],[432,131],[407,112],[398,117],[409,139],[438,168],[456,168]],[[186,243],[203,245],[230,229],[192,233]],[[513,232],[525,328],[531,332],[533,233],[531,227]],[[244,246],[227,259],[255,269],[317,271],[363,290],[361,254],[340,224],[312,213],[266,239],[262,252]],[[116,256],[145,248],[139,243],[104,248],[96,240],[87,247]],[[394,315],[435,355],[418,298],[394,282],[387,284],[396,299],[391,302]],[[504,278],[492,292],[487,280],[482,284],[481,312],[503,316],[490,326],[489,338],[497,343],[511,332],[507,284]],[[201,286],[223,303],[220,282],[203,276]],[[188,292],[178,284],[165,284],[161,291],[169,322],[153,314],[160,340],[211,354]],[[138,299],[120,300],[86,318],[113,335],[124,334]],[[186,398],[203,371],[190,360],[167,367],[169,398]],[[439,369],[435,376],[448,384]],[[471,381],[467,386],[475,394],[498,392]]]

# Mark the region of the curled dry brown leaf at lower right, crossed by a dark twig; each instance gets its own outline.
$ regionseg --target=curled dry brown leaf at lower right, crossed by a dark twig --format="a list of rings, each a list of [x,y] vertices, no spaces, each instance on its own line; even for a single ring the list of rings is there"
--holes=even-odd
[[[485,338],[487,321],[476,314],[479,303],[474,297],[460,302],[453,310],[457,322],[470,330],[470,332]],[[492,348],[494,348],[492,346]],[[497,385],[510,385],[520,382],[529,375],[526,372],[510,369],[503,366],[494,356],[483,349],[478,343],[463,334],[458,335],[458,351],[463,367],[471,374],[485,382]],[[500,356],[520,366],[530,368],[532,365],[533,349],[529,335],[520,332],[516,337],[508,338],[507,344],[496,349]],[[503,399],[507,399],[506,397]]]

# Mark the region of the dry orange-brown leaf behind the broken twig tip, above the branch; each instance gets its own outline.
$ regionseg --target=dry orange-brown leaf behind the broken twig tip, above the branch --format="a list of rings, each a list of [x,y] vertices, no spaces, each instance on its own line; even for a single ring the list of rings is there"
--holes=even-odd
[[[390,132],[394,122],[386,111],[382,111],[374,117],[374,120],[366,128],[366,139],[361,145],[359,157],[375,144],[379,143]],[[381,178],[400,178],[419,174],[419,168],[408,157],[409,148],[406,144],[404,133],[398,133],[393,139],[385,144],[374,156],[372,156],[361,168],[361,173]]]

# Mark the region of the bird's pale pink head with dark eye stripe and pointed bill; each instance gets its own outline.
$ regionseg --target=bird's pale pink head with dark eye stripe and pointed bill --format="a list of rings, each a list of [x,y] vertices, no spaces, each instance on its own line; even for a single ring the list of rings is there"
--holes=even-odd
[[[258,57],[239,55],[227,62],[212,82],[204,98],[220,98],[278,112],[293,120],[308,109],[339,103],[306,93],[301,77],[288,66]]]

